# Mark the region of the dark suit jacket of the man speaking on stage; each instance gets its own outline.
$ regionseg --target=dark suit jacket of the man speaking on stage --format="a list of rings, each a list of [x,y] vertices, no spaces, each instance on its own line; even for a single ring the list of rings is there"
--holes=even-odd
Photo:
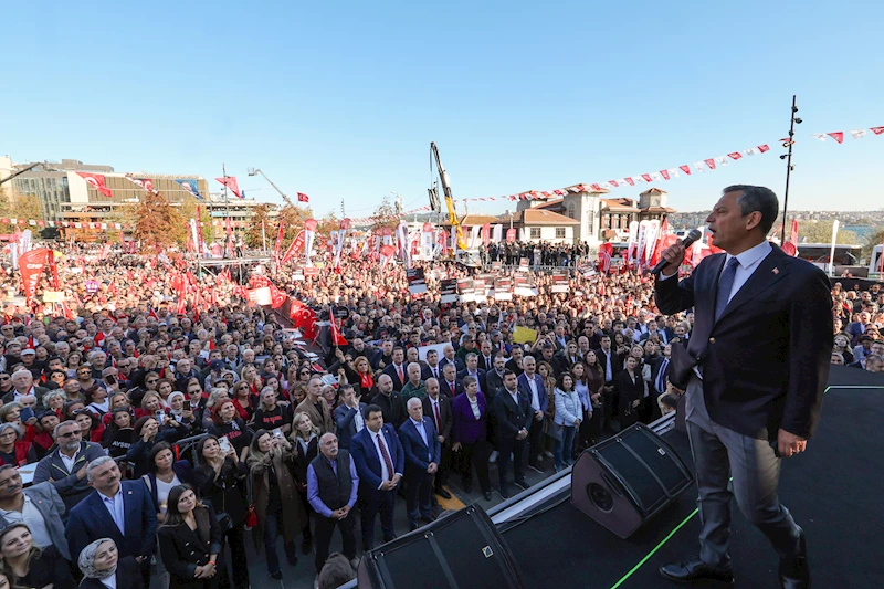
[[[774,245],[716,322],[725,260],[711,255],[687,278],[655,285],[661,313],[694,307],[687,353],[703,369],[709,418],[759,440],[776,439],[780,429],[811,438],[832,353],[829,280]]]

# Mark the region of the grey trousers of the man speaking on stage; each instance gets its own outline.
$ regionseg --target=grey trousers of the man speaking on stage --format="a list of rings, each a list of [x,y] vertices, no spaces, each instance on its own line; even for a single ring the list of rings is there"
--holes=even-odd
[[[730,566],[730,501],[777,550],[781,559],[801,554],[799,528],[777,497],[780,459],[767,440],[756,440],[709,419],[703,382],[687,385],[687,435],[696,464],[699,558],[713,568]],[[733,476],[733,486],[728,480]]]

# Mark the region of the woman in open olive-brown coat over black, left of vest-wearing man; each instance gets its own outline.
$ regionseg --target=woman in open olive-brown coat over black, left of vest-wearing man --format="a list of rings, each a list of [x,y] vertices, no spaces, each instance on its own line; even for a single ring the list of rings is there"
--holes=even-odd
[[[282,578],[280,558],[276,555],[276,536],[282,532],[288,564],[297,565],[295,537],[306,519],[299,498],[296,496],[294,452],[284,435],[274,435],[257,430],[252,439],[249,455],[257,526],[252,532],[255,549],[261,549],[267,559],[267,572],[274,579]]]

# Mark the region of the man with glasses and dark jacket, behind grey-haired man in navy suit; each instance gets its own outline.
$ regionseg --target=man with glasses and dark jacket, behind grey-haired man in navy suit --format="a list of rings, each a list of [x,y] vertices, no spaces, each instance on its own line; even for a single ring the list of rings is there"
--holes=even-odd
[[[105,455],[102,444],[84,442],[76,421],[59,423],[53,431],[56,448],[36,463],[34,484],[51,481],[70,511],[92,492],[86,481],[86,465]]]

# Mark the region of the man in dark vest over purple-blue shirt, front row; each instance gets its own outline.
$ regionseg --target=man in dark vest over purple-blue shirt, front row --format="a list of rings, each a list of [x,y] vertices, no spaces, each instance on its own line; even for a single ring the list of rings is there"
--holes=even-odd
[[[319,454],[307,466],[307,501],[316,512],[316,574],[323,570],[335,527],[344,540],[344,556],[356,558],[356,505],[359,474],[346,449],[338,449],[334,433],[319,438]]]

